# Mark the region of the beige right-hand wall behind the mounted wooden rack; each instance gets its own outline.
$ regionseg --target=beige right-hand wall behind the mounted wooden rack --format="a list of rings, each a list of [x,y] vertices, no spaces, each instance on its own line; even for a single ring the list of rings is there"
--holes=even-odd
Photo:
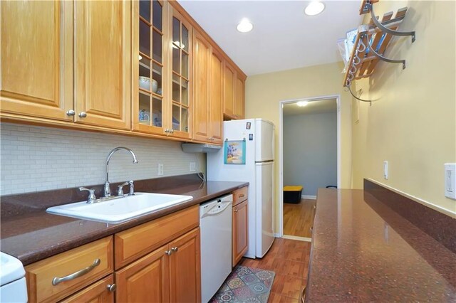
[[[369,80],[356,83],[363,97],[353,124],[353,187],[371,178],[445,213],[456,201],[444,195],[444,163],[456,162],[455,1],[380,1],[375,14],[408,6],[401,28],[416,41],[398,38],[386,55],[407,68],[380,63]],[[383,160],[389,178],[383,179]]]

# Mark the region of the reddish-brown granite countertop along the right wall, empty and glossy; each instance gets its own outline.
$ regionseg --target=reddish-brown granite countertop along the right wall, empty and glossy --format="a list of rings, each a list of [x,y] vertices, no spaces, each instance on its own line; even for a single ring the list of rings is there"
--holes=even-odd
[[[456,302],[456,253],[367,191],[319,189],[312,239],[308,303]]]

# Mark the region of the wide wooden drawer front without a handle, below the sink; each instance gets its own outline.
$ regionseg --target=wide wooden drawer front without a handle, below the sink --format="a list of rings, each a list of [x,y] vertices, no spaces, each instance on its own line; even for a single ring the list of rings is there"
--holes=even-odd
[[[115,269],[199,226],[199,206],[185,208],[114,235]]]

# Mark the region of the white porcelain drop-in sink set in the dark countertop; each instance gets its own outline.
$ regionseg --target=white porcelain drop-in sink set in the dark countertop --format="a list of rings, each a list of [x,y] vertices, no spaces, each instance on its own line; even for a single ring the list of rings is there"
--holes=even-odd
[[[191,201],[192,196],[169,195],[165,193],[135,193],[108,201],[88,204],[86,201],[53,206],[48,213],[105,223],[121,223],[138,218],[161,208]]]

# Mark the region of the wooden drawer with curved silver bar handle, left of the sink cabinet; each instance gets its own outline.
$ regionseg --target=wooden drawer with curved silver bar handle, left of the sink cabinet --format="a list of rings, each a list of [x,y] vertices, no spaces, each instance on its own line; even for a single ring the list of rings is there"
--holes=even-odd
[[[113,272],[113,255],[108,237],[26,266],[28,302],[55,302],[90,285]]]

